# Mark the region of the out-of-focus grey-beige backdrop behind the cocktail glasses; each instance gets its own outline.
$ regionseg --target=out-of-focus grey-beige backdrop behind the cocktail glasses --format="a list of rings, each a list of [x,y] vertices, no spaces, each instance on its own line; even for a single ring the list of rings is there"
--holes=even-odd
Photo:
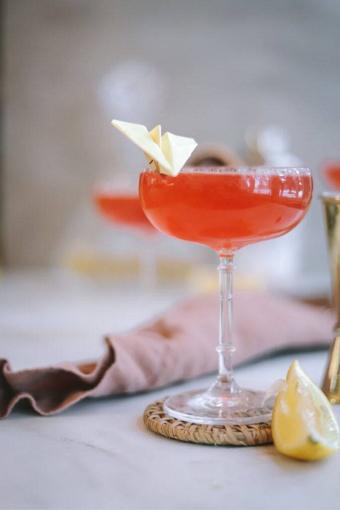
[[[236,264],[245,285],[327,294],[318,195],[324,162],[340,158],[337,0],[4,0],[2,14],[5,268],[138,277],[143,236],[94,203],[101,183],[136,191],[145,165],[118,118],[218,144],[231,161],[308,166],[306,218]],[[208,248],[159,235],[151,251],[161,282],[217,279]]]

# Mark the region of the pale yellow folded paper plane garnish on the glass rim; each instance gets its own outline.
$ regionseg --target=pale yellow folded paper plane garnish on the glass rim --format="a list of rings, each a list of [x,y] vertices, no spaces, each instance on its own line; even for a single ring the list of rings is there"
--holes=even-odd
[[[150,132],[142,124],[113,120],[112,124],[140,147],[152,170],[176,176],[185,165],[197,146],[193,138],[164,133],[161,126],[155,126]]]

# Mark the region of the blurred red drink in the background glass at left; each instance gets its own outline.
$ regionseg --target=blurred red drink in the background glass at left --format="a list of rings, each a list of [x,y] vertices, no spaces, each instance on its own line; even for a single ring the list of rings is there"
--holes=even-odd
[[[97,192],[94,199],[98,210],[113,223],[154,232],[153,226],[144,214],[137,194],[103,191]]]

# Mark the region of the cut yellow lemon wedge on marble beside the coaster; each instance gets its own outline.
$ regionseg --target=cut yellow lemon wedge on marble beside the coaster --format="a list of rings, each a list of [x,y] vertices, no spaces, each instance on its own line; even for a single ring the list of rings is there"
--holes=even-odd
[[[276,397],[272,434],[279,452],[303,460],[316,460],[340,449],[340,428],[332,406],[297,360]]]

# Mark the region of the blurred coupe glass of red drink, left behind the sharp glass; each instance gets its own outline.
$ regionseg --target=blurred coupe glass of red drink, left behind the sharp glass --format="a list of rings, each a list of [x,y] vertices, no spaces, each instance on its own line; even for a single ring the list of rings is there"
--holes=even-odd
[[[155,238],[158,231],[145,216],[138,192],[110,184],[98,186],[94,202],[102,216],[124,230],[142,237],[138,249],[141,285],[152,290],[156,285]]]

